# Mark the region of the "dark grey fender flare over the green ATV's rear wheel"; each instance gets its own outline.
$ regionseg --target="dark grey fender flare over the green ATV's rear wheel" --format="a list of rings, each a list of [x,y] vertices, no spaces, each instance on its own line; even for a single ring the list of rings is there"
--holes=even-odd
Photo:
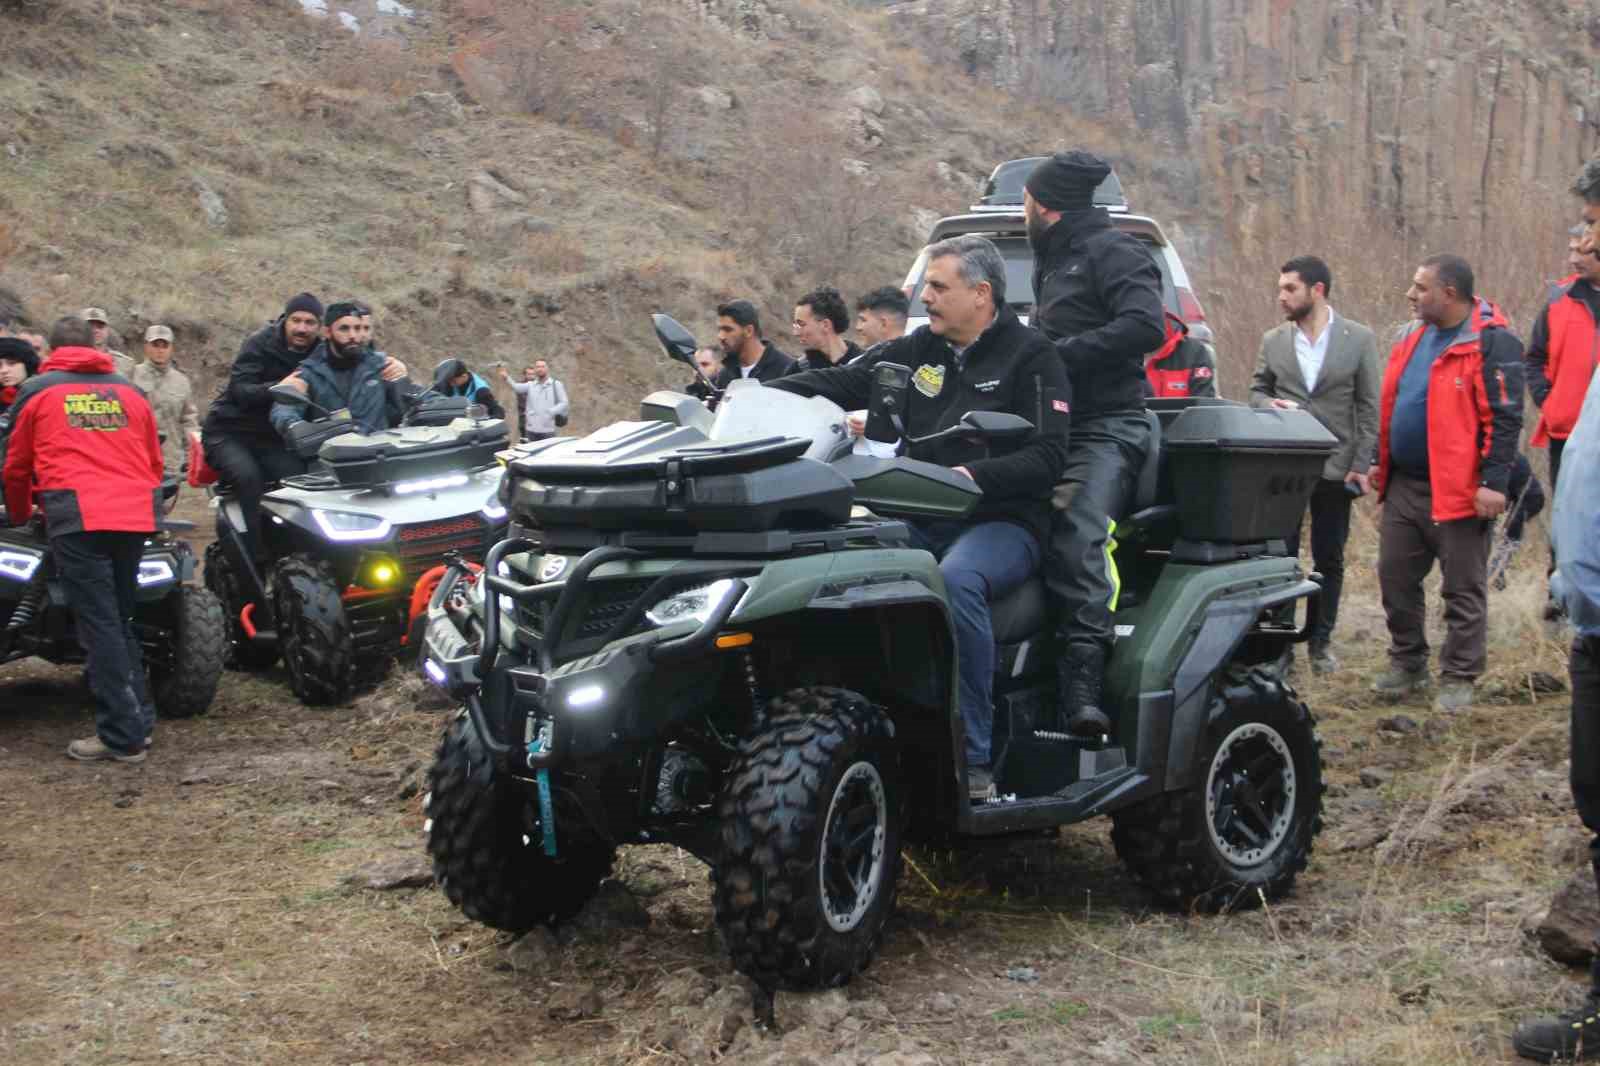
[[[1195,642],[1184,653],[1173,677],[1173,690],[1162,693],[1173,701],[1171,731],[1166,743],[1165,791],[1198,783],[1195,751],[1210,725],[1213,709],[1226,704],[1211,699],[1211,680],[1234,658],[1245,635],[1269,610],[1317,595],[1315,581],[1294,581],[1213,600],[1205,611]]]

